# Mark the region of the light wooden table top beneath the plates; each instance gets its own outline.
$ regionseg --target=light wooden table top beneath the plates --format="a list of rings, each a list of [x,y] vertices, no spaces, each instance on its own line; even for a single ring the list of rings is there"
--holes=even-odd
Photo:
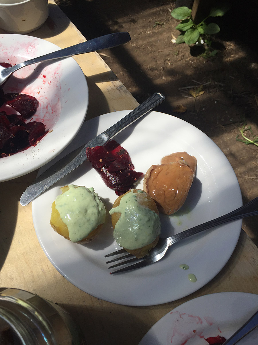
[[[5,33],[0,29],[0,33]],[[85,41],[61,9],[50,0],[50,17],[30,36],[61,48]],[[89,86],[87,118],[133,109],[138,103],[97,53],[75,56]],[[258,249],[241,231],[236,249],[221,272],[190,296],[174,302],[130,307],[106,302],[82,292],[50,263],[37,240],[31,204],[19,199],[37,171],[0,183],[0,287],[14,287],[63,306],[82,327],[88,345],[137,345],[162,316],[192,298],[217,292],[258,294]]]

